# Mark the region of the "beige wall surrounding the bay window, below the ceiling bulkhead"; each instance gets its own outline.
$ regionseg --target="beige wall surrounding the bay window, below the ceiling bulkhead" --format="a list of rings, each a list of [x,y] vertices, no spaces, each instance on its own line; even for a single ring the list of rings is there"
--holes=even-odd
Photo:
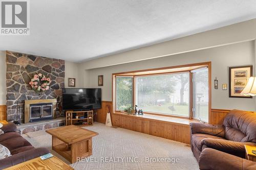
[[[104,75],[104,86],[102,88],[102,100],[112,101],[112,74],[115,72],[132,71],[165,66],[175,66],[190,63],[211,61],[212,83],[214,78],[219,80],[219,89],[212,88],[212,108],[215,109],[243,109],[255,110],[255,97],[253,99],[229,98],[228,90],[222,90],[224,83],[228,84],[228,67],[239,65],[254,66],[254,41],[247,41],[231,45],[219,46],[189,52],[179,55],[138,61],[133,63],[119,64],[115,66],[102,67],[89,70],[90,84],[84,87],[98,87],[98,75]],[[212,84],[212,87],[214,85]]]

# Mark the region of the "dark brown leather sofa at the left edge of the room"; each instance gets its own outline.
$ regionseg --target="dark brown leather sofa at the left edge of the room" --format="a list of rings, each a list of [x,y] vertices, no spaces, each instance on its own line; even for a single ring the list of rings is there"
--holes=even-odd
[[[1,128],[0,143],[9,149],[12,156],[0,160],[0,169],[48,154],[46,148],[34,148],[25,138],[16,132],[16,125],[6,124]]]

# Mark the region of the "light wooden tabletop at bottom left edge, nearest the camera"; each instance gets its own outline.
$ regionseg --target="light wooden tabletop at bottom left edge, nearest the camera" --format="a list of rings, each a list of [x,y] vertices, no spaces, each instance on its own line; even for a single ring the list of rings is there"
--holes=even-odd
[[[16,164],[14,166],[5,168],[4,170],[36,170],[36,169],[62,169],[62,170],[74,170],[73,167],[67,163],[61,161],[57,157],[51,157],[46,160],[41,160],[40,157],[28,160],[23,163]]]

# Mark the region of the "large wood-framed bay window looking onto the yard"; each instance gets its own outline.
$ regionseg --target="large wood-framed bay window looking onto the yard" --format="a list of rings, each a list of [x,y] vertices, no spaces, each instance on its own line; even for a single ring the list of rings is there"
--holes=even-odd
[[[201,119],[210,110],[210,62],[113,74],[113,108]]]

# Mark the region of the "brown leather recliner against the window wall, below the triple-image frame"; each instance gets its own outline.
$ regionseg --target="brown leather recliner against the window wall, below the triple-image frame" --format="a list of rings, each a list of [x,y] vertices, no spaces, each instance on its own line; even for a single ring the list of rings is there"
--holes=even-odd
[[[190,124],[190,146],[199,161],[205,148],[245,158],[244,144],[256,145],[256,113],[231,110],[223,125]]]

